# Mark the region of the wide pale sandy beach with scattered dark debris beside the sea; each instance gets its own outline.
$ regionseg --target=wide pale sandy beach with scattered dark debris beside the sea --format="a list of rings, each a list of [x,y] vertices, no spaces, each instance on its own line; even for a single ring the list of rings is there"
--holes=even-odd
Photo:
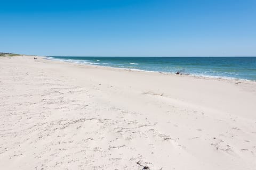
[[[255,169],[256,82],[0,57],[0,169]]]

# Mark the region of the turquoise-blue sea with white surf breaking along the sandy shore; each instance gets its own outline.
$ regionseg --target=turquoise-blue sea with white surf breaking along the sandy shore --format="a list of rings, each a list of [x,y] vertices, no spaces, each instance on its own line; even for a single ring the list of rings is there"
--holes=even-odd
[[[256,81],[256,57],[47,57],[81,64]]]

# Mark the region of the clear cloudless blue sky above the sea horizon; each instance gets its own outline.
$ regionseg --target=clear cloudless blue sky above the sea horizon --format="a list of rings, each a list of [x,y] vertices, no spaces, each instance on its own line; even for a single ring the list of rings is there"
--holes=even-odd
[[[256,56],[255,0],[1,0],[0,4],[0,52]]]

